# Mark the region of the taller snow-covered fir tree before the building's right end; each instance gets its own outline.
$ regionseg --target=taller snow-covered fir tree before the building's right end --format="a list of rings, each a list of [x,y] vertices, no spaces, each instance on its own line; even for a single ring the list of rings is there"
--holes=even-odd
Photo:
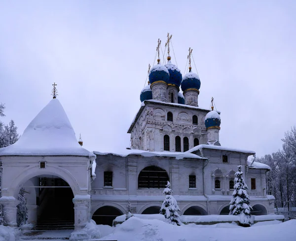
[[[237,167],[238,172],[235,172],[234,191],[230,201],[229,214],[239,215],[239,224],[244,227],[252,225],[250,199],[247,193],[248,187],[243,178],[242,166]]]

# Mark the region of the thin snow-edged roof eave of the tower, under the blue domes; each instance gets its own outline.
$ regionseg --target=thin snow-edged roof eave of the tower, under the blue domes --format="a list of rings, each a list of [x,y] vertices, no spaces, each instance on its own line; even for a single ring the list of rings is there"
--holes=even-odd
[[[168,102],[162,102],[162,101],[157,101],[157,100],[148,100],[148,101],[144,101],[141,103],[141,107],[138,110],[137,114],[135,115],[131,126],[129,127],[127,133],[131,133],[138,118],[140,117],[142,111],[144,110],[145,106],[147,104],[159,104],[159,105],[165,105],[165,106],[174,106],[174,107],[179,107],[179,108],[185,108],[185,109],[194,109],[194,110],[199,110],[199,111],[203,111],[203,112],[210,112],[209,109],[204,109],[204,108],[200,108],[200,107],[196,107],[196,106],[192,106],[192,105],[187,105],[187,104],[179,104],[179,103],[168,103]],[[220,113],[220,111],[217,110],[218,113]]]

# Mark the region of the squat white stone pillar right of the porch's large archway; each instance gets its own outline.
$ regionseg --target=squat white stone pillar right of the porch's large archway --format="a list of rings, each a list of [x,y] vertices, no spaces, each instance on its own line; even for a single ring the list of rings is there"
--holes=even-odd
[[[84,228],[88,223],[90,195],[75,195],[74,203],[74,227],[75,229]]]

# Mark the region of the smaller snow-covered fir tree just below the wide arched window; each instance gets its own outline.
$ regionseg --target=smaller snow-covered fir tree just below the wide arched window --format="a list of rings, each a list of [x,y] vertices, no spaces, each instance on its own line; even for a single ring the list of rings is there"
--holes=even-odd
[[[165,194],[165,200],[162,203],[159,213],[163,214],[168,223],[174,225],[181,225],[179,213],[181,210],[178,207],[176,199],[172,196],[173,190],[170,188],[171,184],[168,181],[166,188],[162,194]]]

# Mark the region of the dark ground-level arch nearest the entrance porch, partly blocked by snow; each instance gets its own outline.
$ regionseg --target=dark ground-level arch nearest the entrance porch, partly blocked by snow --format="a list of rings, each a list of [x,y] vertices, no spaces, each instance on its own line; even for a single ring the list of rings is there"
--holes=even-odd
[[[104,206],[94,212],[92,219],[96,222],[96,224],[112,226],[113,220],[122,214],[123,213],[116,207]]]

